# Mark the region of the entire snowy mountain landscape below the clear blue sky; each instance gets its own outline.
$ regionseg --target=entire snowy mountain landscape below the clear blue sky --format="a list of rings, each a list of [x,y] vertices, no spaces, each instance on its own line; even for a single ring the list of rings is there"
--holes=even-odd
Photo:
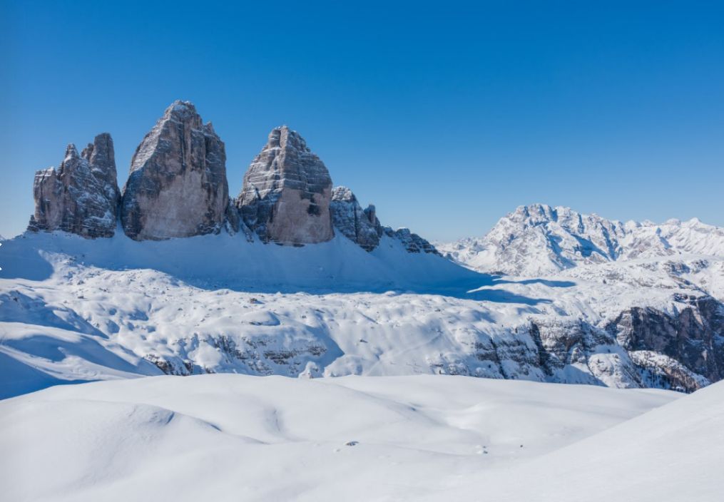
[[[36,174],[0,248],[6,498],[718,500],[722,229],[534,205],[450,260],[287,127],[235,199],[224,163],[179,101],[122,193],[107,133]]]

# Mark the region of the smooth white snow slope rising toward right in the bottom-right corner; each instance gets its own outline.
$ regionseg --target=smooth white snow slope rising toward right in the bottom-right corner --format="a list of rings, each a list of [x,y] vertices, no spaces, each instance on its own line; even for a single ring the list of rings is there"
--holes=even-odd
[[[476,500],[484,493],[501,502],[713,502],[724,493],[722,462],[724,383],[715,383],[515,469],[475,475],[466,479],[466,487],[445,496]]]

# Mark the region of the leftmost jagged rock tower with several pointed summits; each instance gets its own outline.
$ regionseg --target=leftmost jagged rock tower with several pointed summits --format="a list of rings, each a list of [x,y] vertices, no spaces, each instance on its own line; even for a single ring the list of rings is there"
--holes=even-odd
[[[58,169],[35,173],[35,214],[28,230],[62,230],[87,238],[112,237],[116,230],[119,190],[113,140],[96,136],[79,156],[68,145]]]

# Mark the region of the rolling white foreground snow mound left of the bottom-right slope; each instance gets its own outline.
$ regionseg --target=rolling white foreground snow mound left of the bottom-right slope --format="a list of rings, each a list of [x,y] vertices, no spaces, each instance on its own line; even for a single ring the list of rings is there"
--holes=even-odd
[[[515,472],[678,396],[424,375],[60,386],[0,402],[0,485],[16,502],[452,500],[476,473]]]

